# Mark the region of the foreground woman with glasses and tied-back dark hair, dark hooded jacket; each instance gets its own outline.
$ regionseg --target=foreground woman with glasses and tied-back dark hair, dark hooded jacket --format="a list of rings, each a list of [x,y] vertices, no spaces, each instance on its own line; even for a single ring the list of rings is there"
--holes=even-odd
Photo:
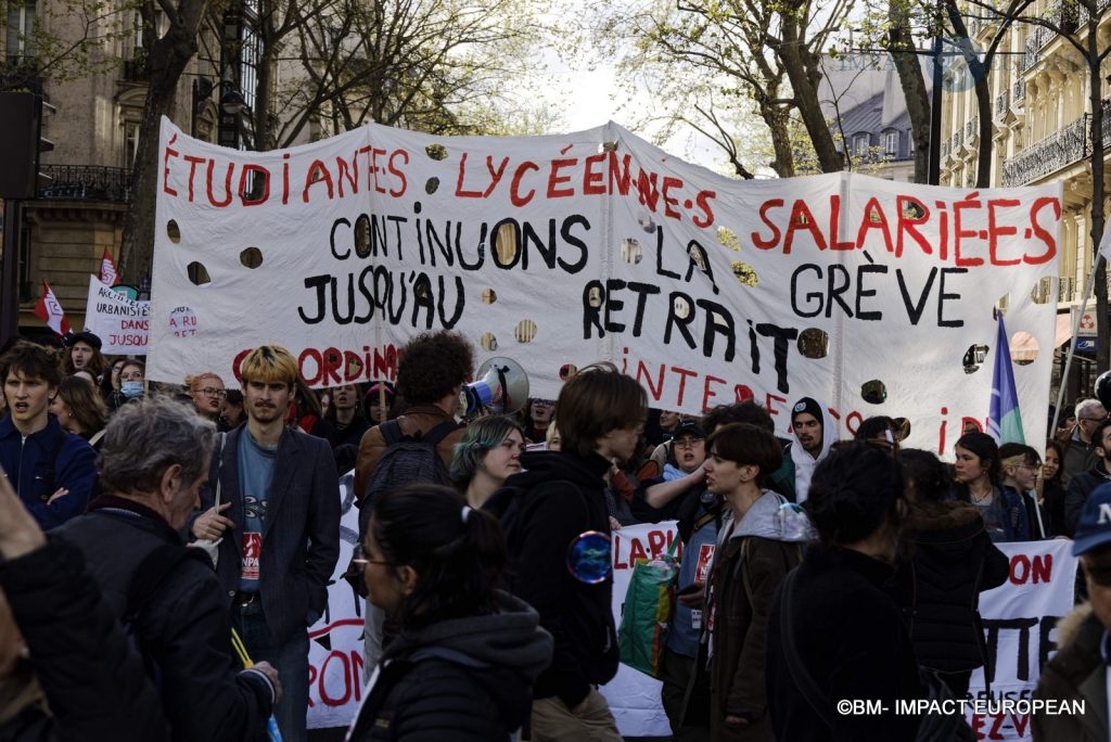
[[[507,553],[494,518],[447,487],[393,490],[376,502],[356,563],[401,631],[347,739],[508,740],[529,716],[552,638],[497,589]]]

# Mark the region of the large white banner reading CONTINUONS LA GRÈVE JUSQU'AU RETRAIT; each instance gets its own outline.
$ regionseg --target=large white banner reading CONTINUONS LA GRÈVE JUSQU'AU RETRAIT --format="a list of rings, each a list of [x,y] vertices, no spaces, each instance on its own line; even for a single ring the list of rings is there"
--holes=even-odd
[[[367,126],[244,152],[163,120],[148,375],[232,379],[279,341],[313,387],[393,378],[398,348],[449,328],[480,361],[519,361],[539,397],[561,370],[611,360],[652,407],[753,398],[785,431],[811,395],[842,435],[901,415],[908,444],[945,454],[988,415],[1005,300],[1037,445],[1061,217],[1060,184],[730,180],[614,123],[529,138]]]

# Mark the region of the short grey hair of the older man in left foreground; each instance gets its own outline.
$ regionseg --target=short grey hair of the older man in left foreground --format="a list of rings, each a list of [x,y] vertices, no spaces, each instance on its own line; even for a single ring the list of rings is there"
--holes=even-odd
[[[192,483],[207,471],[216,424],[191,404],[156,397],[121,407],[100,449],[100,482],[108,492],[153,492],[173,464]]]

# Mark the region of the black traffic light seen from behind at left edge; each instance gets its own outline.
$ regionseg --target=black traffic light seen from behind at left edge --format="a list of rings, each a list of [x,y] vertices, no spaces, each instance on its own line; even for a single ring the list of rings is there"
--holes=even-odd
[[[42,114],[54,107],[41,96],[0,92],[0,199],[33,199],[39,184],[39,153],[54,149],[43,139]]]

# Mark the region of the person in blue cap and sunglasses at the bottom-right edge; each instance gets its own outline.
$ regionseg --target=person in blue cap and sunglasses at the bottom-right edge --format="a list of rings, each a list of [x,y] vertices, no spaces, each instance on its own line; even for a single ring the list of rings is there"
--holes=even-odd
[[[1080,713],[1030,714],[1035,742],[1104,742],[1108,739],[1108,648],[1111,643],[1111,484],[1083,504],[1072,553],[1088,601],[1057,626],[1057,653],[1045,663],[1035,701],[1075,704]],[[1082,705],[1081,705],[1082,704]]]

